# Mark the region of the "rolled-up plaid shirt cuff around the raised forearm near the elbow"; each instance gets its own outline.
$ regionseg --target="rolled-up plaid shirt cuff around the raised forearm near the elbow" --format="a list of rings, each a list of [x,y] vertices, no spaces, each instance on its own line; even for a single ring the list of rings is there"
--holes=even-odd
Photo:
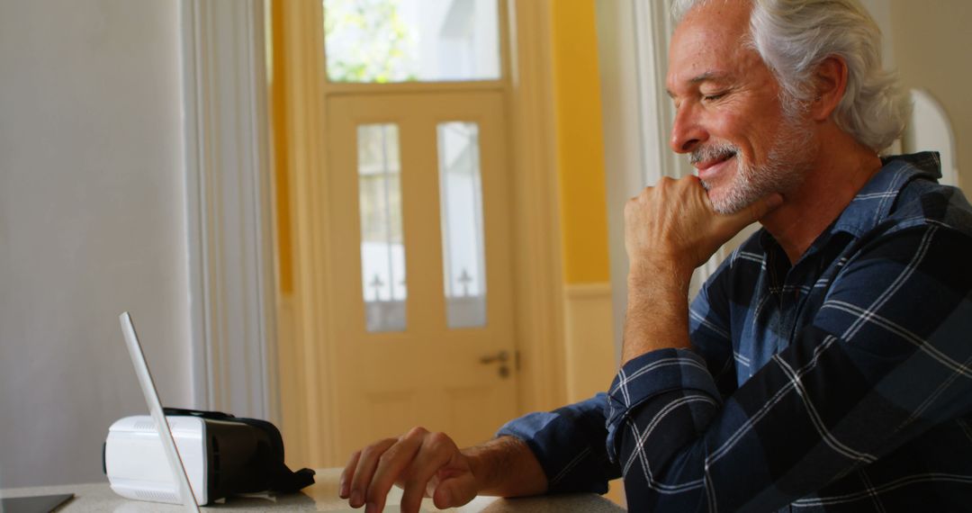
[[[618,371],[605,404],[608,458],[617,462],[620,433],[635,409],[663,393],[694,390],[722,399],[706,360],[691,349],[660,349],[631,359]]]

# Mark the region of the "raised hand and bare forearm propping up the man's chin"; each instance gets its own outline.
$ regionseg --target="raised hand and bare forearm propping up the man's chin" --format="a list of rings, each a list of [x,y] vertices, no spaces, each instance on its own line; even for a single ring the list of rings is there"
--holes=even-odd
[[[622,364],[649,351],[688,347],[692,271],[781,203],[781,195],[774,193],[735,214],[717,214],[695,176],[663,178],[628,201],[628,312]]]

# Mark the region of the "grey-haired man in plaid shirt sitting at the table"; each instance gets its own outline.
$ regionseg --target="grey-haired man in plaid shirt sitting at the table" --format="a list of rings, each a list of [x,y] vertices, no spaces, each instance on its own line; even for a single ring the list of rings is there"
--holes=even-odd
[[[634,511],[946,511],[972,503],[972,209],[935,154],[882,158],[908,108],[851,0],[678,2],[671,146],[698,177],[625,210],[607,394],[481,446],[416,428],[340,493],[402,511],[607,490]],[[758,221],[688,304],[692,271]]]

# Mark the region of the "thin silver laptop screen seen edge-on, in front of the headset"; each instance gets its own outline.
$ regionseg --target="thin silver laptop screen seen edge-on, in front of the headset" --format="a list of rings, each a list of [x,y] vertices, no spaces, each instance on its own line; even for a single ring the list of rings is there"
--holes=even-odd
[[[149,405],[152,420],[156,424],[158,438],[162,442],[162,449],[165,452],[166,460],[169,462],[169,469],[172,471],[173,481],[176,483],[176,488],[179,489],[179,496],[182,498],[182,503],[188,511],[198,513],[199,506],[196,504],[195,496],[192,495],[189,475],[186,473],[186,467],[183,466],[182,459],[179,457],[179,450],[176,448],[176,442],[172,438],[169,423],[165,420],[165,414],[162,413],[162,403],[158,400],[156,384],[152,380],[152,374],[149,372],[149,364],[146,363],[145,355],[142,353],[142,345],[138,342],[135,325],[132,324],[131,316],[128,315],[128,312],[122,313],[119,320],[121,321],[121,332],[124,334],[125,345],[128,347],[128,355],[131,357],[131,363],[135,367],[135,375],[138,376],[138,384],[142,388],[142,394],[145,395],[145,402]]]

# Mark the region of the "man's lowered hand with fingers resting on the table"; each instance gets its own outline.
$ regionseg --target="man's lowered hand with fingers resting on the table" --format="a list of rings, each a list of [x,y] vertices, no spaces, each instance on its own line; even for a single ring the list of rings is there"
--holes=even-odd
[[[412,428],[351,455],[338,492],[351,507],[366,504],[365,511],[375,513],[385,507],[393,484],[404,491],[405,513],[417,512],[425,496],[442,509],[466,504],[479,491],[469,460],[452,438],[425,428]]]

